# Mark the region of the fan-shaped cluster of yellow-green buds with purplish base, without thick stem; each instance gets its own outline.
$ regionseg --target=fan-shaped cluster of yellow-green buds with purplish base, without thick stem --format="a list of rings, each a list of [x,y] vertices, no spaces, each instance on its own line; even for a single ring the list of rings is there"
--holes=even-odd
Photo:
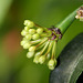
[[[34,58],[34,63],[48,62],[50,70],[56,65],[55,48],[61,33],[56,29],[48,29],[35,24],[30,20],[24,21],[21,45],[28,50],[27,58]]]

